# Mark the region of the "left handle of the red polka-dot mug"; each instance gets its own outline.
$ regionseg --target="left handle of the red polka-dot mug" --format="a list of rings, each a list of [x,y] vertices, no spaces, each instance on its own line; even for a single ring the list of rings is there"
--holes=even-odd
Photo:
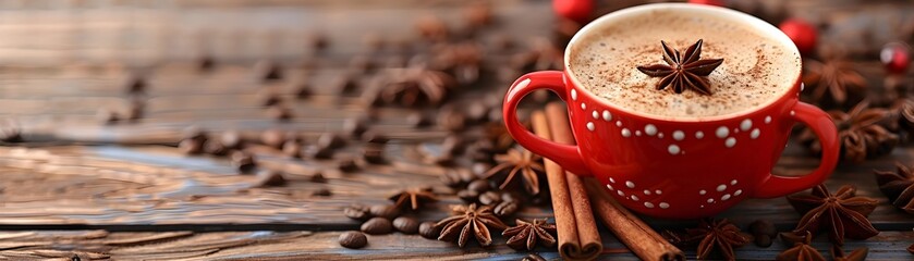
[[[514,140],[529,151],[555,161],[565,171],[577,175],[589,175],[590,171],[584,164],[576,145],[563,145],[540,138],[531,133],[517,120],[517,103],[529,92],[548,89],[556,92],[562,100],[566,100],[566,88],[564,74],[561,71],[533,72],[521,76],[517,80],[514,80],[514,84],[508,89],[508,94],[504,95],[502,104],[504,125]]]

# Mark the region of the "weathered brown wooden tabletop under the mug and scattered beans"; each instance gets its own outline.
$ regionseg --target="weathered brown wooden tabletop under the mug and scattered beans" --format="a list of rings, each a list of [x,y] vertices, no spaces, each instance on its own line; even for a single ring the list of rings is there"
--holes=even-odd
[[[772,1],[768,4],[777,4]],[[876,30],[874,42],[892,38],[891,17],[914,18],[914,7],[899,1],[876,1],[861,8],[856,1],[791,1],[788,12],[832,26],[887,28]],[[516,260],[515,252],[496,239],[490,248],[456,248],[450,243],[415,235],[369,236],[365,249],[340,247],[340,233],[359,223],[342,215],[352,202],[380,203],[398,189],[436,186],[449,191],[439,175],[444,167],[426,163],[424,150],[436,150],[448,134],[440,127],[414,129],[405,109],[380,109],[373,125],[393,138],[386,152],[391,164],[366,165],[343,173],[332,161],[289,159],[270,150],[256,150],[260,165],[281,170],[290,183],[283,187],[248,188],[255,177],[237,175],[224,158],[187,157],[174,148],[191,125],[211,133],[228,129],[256,136],[268,128],[294,129],[308,140],[325,132],[340,132],[348,117],[367,112],[357,95],[339,96],[329,84],[345,73],[349,59],[366,53],[365,32],[386,39],[413,37],[413,21],[436,14],[456,24],[462,1],[391,2],[331,0],[269,1],[20,1],[0,5],[0,116],[14,120],[26,142],[0,147],[0,258],[10,260],[78,256],[82,260],[315,260],[315,259],[491,259]],[[499,32],[519,47],[498,50],[486,45],[489,73],[503,66],[533,39],[548,37],[548,1],[492,1]],[[873,13],[901,13],[880,15]],[[886,23],[882,23],[886,22]],[[868,26],[868,27],[867,27]],[[308,36],[325,34],[326,52],[307,48]],[[203,35],[203,36],[200,36]],[[484,42],[495,34],[484,34]],[[826,34],[827,40],[854,40],[853,35]],[[856,45],[855,45],[856,46]],[[877,45],[875,48],[877,48]],[[870,47],[869,49],[873,49]],[[872,51],[863,48],[858,53]],[[218,61],[216,71],[196,72],[200,50]],[[391,53],[378,54],[379,59]],[[271,59],[285,65],[287,80],[265,85],[252,65]],[[295,101],[293,83],[307,70],[316,95]],[[858,61],[874,91],[881,86],[881,69],[873,57]],[[124,83],[137,70],[148,72],[146,116],[137,123],[106,125],[99,108],[123,110]],[[909,80],[911,76],[907,76]],[[363,79],[368,80],[368,79]],[[464,94],[484,99],[503,94],[504,80]],[[277,122],[259,104],[265,92],[282,94],[293,104],[294,117]],[[478,129],[476,129],[478,130]],[[476,132],[471,129],[470,133]],[[362,144],[350,144],[343,154],[357,156]],[[878,191],[872,170],[893,169],[894,161],[914,163],[912,147],[861,164],[842,163],[831,188],[856,185],[860,195],[880,200],[870,215],[877,237],[849,241],[845,249],[870,248],[870,260],[911,259],[904,249],[914,243],[914,216],[901,212]],[[817,160],[791,144],[776,167],[787,175],[805,173]],[[308,181],[320,172],[329,182]],[[327,188],[332,196],[312,196]],[[425,211],[423,220],[439,220],[447,206]],[[520,217],[551,217],[548,207],[525,208]],[[746,228],[757,219],[773,221],[780,231],[793,228],[799,215],[783,198],[747,200],[719,215]],[[681,228],[694,222],[647,219],[657,229]],[[631,260],[606,228],[604,259]],[[824,237],[814,246],[827,254]],[[746,246],[741,259],[770,260],[785,246]],[[539,249],[558,258],[555,249]],[[694,257],[694,251],[688,252]]]

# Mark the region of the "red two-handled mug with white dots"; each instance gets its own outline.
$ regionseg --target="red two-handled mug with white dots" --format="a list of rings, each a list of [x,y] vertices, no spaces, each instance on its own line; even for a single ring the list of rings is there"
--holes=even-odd
[[[800,55],[783,33],[751,15],[717,7],[658,3],[620,10],[595,20],[569,44],[565,64],[575,39],[588,34],[595,24],[612,23],[624,16],[621,14],[654,9],[678,9],[744,21]],[[836,126],[820,109],[799,101],[803,90],[800,69],[790,89],[769,103],[702,119],[659,117],[629,111],[592,94],[569,69],[535,72],[521,76],[504,96],[504,123],[520,145],[569,172],[596,177],[621,204],[633,211],[668,219],[710,216],[745,198],[781,197],[811,188],[831,174],[840,150]],[[517,103],[539,89],[551,90],[568,103],[577,145],[539,138],[517,121]],[[804,176],[773,175],[771,167],[796,122],[805,123],[819,137],[821,162]]]

